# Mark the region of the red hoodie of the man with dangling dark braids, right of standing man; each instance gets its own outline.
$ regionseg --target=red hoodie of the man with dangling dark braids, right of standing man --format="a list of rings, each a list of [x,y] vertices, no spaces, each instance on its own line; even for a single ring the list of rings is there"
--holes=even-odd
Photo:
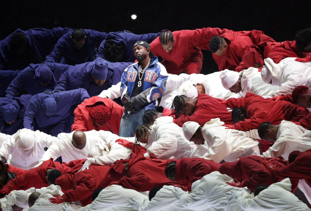
[[[220,118],[220,121],[225,124],[233,124],[231,113],[228,112],[227,106],[221,104],[224,100],[218,99],[205,94],[198,94],[197,104],[195,110],[191,116],[180,117],[174,120],[174,123],[179,127],[183,127],[183,124],[188,121],[197,122],[203,126],[211,119]]]

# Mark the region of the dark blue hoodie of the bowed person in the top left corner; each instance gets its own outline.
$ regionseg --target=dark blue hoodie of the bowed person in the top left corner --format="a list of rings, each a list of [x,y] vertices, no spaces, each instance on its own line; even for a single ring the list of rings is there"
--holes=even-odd
[[[71,31],[70,28],[42,29],[35,28],[29,30],[17,29],[12,34],[0,41],[0,69],[1,70],[22,70],[30,63],[41,63],[45,57],[53,50],[54,45],[65,33]],[[10,48],[10,38],[13,34],[23,33],[29,46],[23,54],[17,54]]]

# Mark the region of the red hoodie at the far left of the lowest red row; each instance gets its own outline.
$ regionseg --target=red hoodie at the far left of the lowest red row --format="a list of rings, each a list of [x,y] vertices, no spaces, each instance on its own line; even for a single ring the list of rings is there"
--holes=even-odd
[[[42,188],[48,187],[46,180],[46,171],[48,169],[58,169],[62,174],[70,171],[70,167],[63,166],[59,162],[54,162],[53,158],[44,161],[40,166],[28,170],[25,174],[16,176],[5,185],[1,192],[2,194],[9,194],[12,190],[27,190],[31,187]]]

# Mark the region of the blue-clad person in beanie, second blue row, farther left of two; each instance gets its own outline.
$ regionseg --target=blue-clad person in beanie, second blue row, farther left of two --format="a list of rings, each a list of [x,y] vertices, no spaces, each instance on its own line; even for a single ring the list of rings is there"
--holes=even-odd
[[[59,77],[72,67],[53,62],[30,64],[12,80],[6,90],[6,97],[17,97],[24,91],[30,95],[35,95],[47,89],[53,89],[52,87]]]

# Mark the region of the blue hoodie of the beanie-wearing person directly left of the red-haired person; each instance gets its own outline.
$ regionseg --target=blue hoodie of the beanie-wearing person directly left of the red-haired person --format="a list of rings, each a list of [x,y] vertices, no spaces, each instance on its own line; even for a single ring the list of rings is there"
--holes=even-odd
[[[44,114],[42,104],[45,98],[53,98],[56,101],[56,111],[52,116]],[[71,115],[73,105],[78,105],[87,98],[90,98],[90,96],[85,89],[81,88],[56,92],[50,95],[36,94],[32,96],[26,108],[24,127],[31,130],[34,130],[34,128],[40,130],[40,128],[58,124]]]

